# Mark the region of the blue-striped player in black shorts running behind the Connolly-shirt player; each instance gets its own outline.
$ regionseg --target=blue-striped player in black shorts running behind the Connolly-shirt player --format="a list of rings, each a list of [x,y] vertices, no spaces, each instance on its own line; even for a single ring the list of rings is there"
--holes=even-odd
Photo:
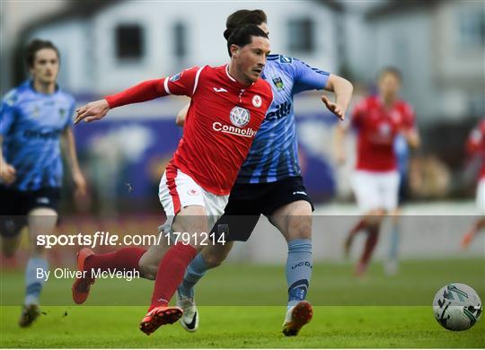
[[[266,22],[266,14],[261,10],[237,11],[227,18],[225,39],[234,28],[245,23],[256,24],[268,32]],[[247,241],[260,214],[269,218],[288,245],[288,303],[283,333],[295,336],[313,316],[311,304],[305,301],[313,264],[313,205],[304,188],[298,163],[293,96],[310,90],[335,92],[335,103],[324,95],[322,101],[333,114],[343,119],[353,88],[339,76],[283,55],[269,55],[262,77],[270,84],[274,101],[231,190],[225,215],[213,229],[213,232],[225,231],[229,242],[203,249],[187,268],[179,287],[178,301],[184,310],[181,325],[189,331],[198,328],[194,285],[207,269],[225,260],[233,241]],[[185,112],[186,109],[182,109],[177,118],[179,125],[183,124]]]

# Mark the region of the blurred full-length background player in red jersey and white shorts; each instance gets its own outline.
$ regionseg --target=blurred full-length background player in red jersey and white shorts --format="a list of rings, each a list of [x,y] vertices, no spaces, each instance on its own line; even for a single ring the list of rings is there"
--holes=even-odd
[[[357,165],[352,188],[357,205],[364,214],[362,220],[349,232],[345,243],[346,254],[359,231],[367,232],[364,253],[355,268],[355,275],[366,272],[384,214],[397,207],[399,172],[393,149],[395,137],[401,133],[412,148],[419,146],[419,135],[414,127],[414,112],[400,100],[401,74],[392,67],[384,68],[378,79],[379,93],[357,104],[351,125],[357,129]],[[337,158],[345,161],[341,142],[347,127],[339,127]]]

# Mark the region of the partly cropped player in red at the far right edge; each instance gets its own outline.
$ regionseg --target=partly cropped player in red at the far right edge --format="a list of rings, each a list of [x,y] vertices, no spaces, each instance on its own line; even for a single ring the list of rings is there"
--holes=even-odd
[[[485,228],[485,120],[472,130],[466,144],[468,153],[481,157],[481,171],[477,186],[477,207],[481,217],[473,224],[472,229],[463,235],[462,248],[466,249],[473,237]]]

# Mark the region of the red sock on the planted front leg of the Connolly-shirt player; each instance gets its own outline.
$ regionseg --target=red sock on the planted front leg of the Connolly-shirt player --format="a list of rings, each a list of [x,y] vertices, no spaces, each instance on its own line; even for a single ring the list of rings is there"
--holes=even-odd
[[[181,243],[175,244],[166,252],[158,266],[149,311],[156,306],[168,305],[177,287],[181,284],[190,261],[196,255],[197,250],[194,247]]]

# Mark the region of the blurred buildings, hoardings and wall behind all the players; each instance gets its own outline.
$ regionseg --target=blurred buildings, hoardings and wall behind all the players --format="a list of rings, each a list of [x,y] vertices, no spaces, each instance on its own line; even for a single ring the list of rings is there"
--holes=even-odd
[[[354,83],[353,103],[375,91],[381,68],[398,67],[404,78],[402,96],[416,109],[422,137],[422,147],[411,159],[401,257],[483,258],[485,235],[466,253],[459,249],[474,220],[468,215],[477,214],[478,162],[465,155],[464,144],[485,116],[483,1],[7,0],[1,6],[3,94],[26,78],[22,48],[33,38],[52,40],[60,48],[59,83],[75,94],[78,105],[184,67],[223,64],[225,18],[241,8],[268,14],[274,53],[298,57]],[[354,137],[347,140],[350,161],[337,167],[332,156],[337,121],[319,96],[314,92],[295,99],[304,179],[319,215],[314,257],[342,262],[344,234],[358,214],[348,181]],[[163,220],[158,182],[181,136],[174,116],[186,102],[170,97],[114,110],[95,125],[76,126],[89,196],[75,203],[66,183],[62,213],[70,218],[61,220],[61,227],[85,231],[97,218],[124,217],[128,225],[127,217],[133,217],[130,224],[149,217],[145,225],[156,230]],[[69,226],[73,221],[76,226]],[[386,240],[384,232],[377,259],[384,256]],[[264,219],[231,259],[280,264],[285,256],[285,242]],[[60,265],[74,264],[74,251],[53,251],[53,257]],[[22,252],[4,264],[22,266]],[[484,268],[478,264],[476,273],[485,279]]]

